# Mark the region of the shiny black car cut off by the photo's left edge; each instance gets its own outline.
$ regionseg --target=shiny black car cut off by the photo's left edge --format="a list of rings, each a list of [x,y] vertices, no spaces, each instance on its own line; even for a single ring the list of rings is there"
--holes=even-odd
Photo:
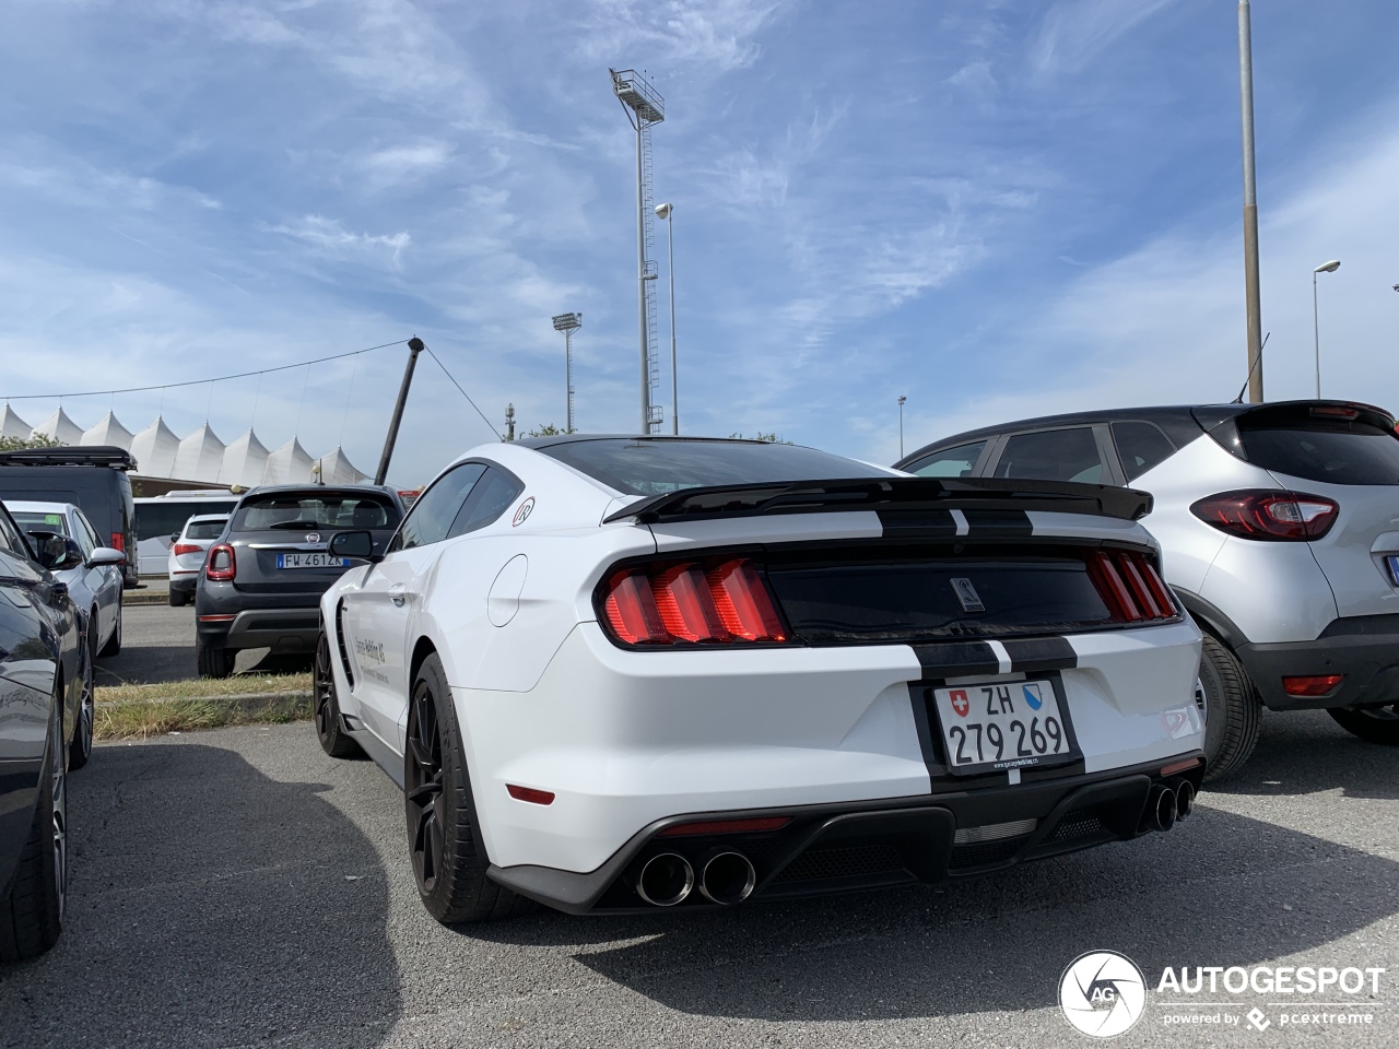
[[[42,954],[63,926],[67,772],[92,732],[81,618],[45,566],[70,543],[53,536],[36,555],[0,506],[0,962]]]

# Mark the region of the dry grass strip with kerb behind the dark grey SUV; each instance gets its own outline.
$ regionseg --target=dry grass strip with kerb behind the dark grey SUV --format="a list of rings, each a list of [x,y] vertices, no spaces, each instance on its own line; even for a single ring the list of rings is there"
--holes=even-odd
[[[144,740],[229,725],[281,725],[311,718],[311,674],[257,674],[97,690],[92,737]]]

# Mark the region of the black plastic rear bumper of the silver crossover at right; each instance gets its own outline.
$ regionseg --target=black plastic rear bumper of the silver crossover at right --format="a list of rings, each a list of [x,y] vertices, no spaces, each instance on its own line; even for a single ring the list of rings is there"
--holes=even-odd
[[[1316,641],[1240,645],[1237,652],[1259,695],[1273,711],[1323,711],[1399,699],[1399,617],[1358,615],[1333,621]],[[1284,677],[1344,674],[1323,697],[1283,691]]]

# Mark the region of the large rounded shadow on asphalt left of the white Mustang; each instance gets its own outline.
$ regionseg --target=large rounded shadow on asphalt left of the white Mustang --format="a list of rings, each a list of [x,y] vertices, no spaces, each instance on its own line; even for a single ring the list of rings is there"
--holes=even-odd
[[[69,785],[71,890],[0,969],[0,1046],[375,1046],[402,1011],[374,846],[232,750],[104,745]]]

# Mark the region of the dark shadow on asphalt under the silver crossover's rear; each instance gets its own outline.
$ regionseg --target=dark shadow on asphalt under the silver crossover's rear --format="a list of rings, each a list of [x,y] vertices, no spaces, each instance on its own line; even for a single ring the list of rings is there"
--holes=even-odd
[[[1301,796],[1340,790],[1346,797],[1399,799],[1399,747],[1365,743],[1323,711],[1265,712],[1254,755],[1223,783],[1223,794]]]

